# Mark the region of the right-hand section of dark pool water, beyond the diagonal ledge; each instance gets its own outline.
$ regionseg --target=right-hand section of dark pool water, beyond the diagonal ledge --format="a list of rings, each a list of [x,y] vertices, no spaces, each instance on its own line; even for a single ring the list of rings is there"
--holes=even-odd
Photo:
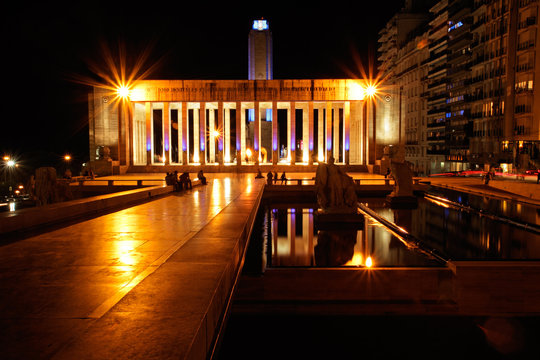
[[[488,200],[468,199],[471,202]],[[456,199],[457,200],[457,199]],[[462,199],[463,200],[463,199]],[[431,249],[453,260],[540,259],[540,235],[474,212],[444,206],[433,199],[420,199],[415,210],[389,210],[382,203],[368,204],[386,219],[405,228]],[[501,202],[509,211],[511,204]],[[521,206],[512,204],[512,214]]]

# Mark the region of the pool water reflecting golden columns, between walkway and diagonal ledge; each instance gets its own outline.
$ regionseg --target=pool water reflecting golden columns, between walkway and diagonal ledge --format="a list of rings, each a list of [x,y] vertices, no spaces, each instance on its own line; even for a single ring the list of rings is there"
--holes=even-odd
[[[393,217],[387,209],[386,216]],[[403,225],[412,214],[401,217]],[[274,208],[265,216],[264,239],[269,267],[440,266],[408,247],[379,223],[319,229],[312,208]],[[357,228],[360,227],[361,230]]]

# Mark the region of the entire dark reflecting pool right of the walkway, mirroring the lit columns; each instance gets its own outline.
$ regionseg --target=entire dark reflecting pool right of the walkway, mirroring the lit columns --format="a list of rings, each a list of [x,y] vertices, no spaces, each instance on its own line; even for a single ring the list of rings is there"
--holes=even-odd
[[[455,200],[467,204],[484,201],[471,195]],[[369,216],[356,227],[344,225],[327,230],[321,229],[314,204],[272,204],[261,206],[246,265],[261,270],[266,267],[444,266],[444,261],[431,256],[426,249],[447,260],[540,259],[538,231],[497,221],[481,212],[464,211],[429,198],[419,198],[416,209],[390,209],[380,198],[360,202],[404,229],[422,246],[393,233]],[[534,211],[522,212],[515,204],[505,207],[501,203],[489,203],[489,206],[501,216],[535,221]]]

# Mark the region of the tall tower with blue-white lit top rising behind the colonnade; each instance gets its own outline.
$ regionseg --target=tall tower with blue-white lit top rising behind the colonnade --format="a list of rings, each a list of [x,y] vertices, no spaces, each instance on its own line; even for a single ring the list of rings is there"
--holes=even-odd
[[[248,48],[248,80],[273,79],[272,33],[266,20],[253,21]]]

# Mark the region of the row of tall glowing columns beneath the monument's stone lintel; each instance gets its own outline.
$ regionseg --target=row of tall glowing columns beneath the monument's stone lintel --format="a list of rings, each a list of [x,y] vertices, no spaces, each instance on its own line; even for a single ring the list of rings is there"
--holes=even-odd
[[[311,165],[330,156],[366,164],[369,158],[364,101],[132,102],[129,113],[131,165]]]

